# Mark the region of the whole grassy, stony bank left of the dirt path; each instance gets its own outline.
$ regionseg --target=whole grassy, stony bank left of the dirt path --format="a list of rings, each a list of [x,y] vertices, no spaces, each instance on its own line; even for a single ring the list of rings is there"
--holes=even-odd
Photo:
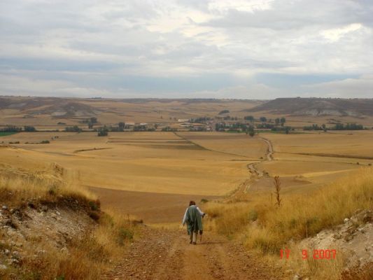
[[[63,167],[0,164],[0,279],[100,279],[134,235]]]

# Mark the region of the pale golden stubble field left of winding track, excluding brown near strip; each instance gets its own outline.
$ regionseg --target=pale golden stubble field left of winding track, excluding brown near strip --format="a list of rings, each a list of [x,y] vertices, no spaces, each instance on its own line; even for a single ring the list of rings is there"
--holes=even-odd
[[[21,134],[25,133],[17,137]],[[43,137],[42,132],[33,135],[37,134]],[[155,139],[162,142],[162,148],[152,146]],[[60,136],[49,145],[25,145],[21,141],[19,148],[3,148],[1,153],[3,162],[12,165],[21,159],[58,162],[80,174],[85,186],[115,190],[225,195],[246,178],[247,163],[235,161],[242,157],[186,150],[178,147],[180,144],[168,143],[175,140],[182,139],[171,132],[113,132],[108,138],[83,132]],[[141,146],[110,141],[138,141]],[[90,151],[74,153],[78,150]]]

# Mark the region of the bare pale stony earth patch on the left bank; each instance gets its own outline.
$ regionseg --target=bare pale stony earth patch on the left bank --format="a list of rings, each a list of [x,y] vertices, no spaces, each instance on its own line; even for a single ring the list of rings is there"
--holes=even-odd
[[[70,242],[93,228],[98,215],[63,197],[54,203],[29,201],[20,208],[0,204],[0,278],[17,279],[24,264],[37,264],[56,251],[69,254]]]

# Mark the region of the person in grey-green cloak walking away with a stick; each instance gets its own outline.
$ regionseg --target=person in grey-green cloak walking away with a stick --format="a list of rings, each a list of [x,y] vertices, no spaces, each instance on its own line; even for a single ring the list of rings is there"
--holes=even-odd
[[[190,235],[190,244],[197,244],[198,232],[201,235],[202,240],[202,217],[204,217],[204,212],[202,212],[195,204],[193,200],[189,202],[189,207],[185,210],[183,225],[187,224],[188,235]]]

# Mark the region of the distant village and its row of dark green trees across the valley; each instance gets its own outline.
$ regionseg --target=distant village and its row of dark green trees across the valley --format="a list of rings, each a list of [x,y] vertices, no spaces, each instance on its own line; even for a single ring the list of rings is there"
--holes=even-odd
[[[292,134],[300,131],[320,130],[326,132],[328,130],[364,130],[367,127],[356,123],[343,124],[337,120],[330,119],[325,125],[309,125],[305,127],[290,127],[286,123],[286,118],[266,118],[264,116],[255,118],[254,116],[231,117],[230,111],[223,110],[218,113],[218,116],[197,117],[197,118],[172,118],[164,120],[162,123],[135,123],[135,122],[119,122],[112,124],[101,123],[98,118],[80,118],[78,125],[69,125],[63,122],[58,122],[57,125],[50,129],[38,130],[38,127],[24,126],[16,127],[14,125],[6,125],[0,128],[2,133],[14,132],[97,132],[98,136],[106,136],[108,132],[236,132],[246,133],[253,137],[258,132],[274,132]]]

